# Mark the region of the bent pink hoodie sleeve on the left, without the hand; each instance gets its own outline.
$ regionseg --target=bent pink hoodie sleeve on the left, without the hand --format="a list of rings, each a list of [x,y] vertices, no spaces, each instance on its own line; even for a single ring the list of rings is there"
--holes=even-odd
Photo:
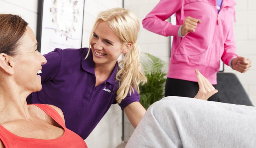
[[[181,6],[180,0],[161,0],[143,19],[143,27],[163,36],[178,36],[180,25],[173,25],[165,20],[180,10]]]

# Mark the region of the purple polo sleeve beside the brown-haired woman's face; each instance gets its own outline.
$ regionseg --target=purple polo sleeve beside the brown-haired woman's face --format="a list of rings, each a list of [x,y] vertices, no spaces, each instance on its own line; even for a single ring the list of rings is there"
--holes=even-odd
[[[42,73],[40,76],[42,77],[42,81],[52,80],[54,79],[61,66],[62,60],[62,49],[56,48],[54,51],[49,52],[44,55],[47,62],[42,65]]]

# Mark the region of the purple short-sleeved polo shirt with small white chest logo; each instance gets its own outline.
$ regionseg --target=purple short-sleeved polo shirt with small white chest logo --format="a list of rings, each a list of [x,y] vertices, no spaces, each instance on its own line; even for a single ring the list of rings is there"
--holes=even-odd
[[[55,49],[44,55],[42,90],[32,93],[28,103],[51,104],[59,107],[65,117],[66,127],[85,139],[105,115],[112,104],[116,104],[118,81],[115,76],[118,63],[110,77],[95,87],[95,71],[92,52],[84,60],[88,48]],[[119,104],[122,109],[139,101],[137,92]]]

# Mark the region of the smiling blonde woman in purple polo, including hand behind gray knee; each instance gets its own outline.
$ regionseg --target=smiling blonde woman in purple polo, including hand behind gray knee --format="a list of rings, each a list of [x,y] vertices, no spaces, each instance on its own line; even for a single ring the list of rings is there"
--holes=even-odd
[[[138,18],[124,8],[101,12],[91,32],[91,49],[57,48],[45,55],[47,63],[40,74],[43,88],[32,93],[28,102],[62,109],[66,127],[83,139],[116,103],[136,127],[146,112],[139,103],[139,84],[146,82],[139,62],[139,26]],[[202,91],[196,98],[207,99],[217,90],[197,73]]]

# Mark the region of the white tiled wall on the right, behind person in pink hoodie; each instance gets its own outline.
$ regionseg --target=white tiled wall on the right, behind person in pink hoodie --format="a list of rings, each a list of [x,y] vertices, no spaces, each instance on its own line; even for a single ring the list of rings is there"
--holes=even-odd
[[[169,37],[151,33],[142,28],[142,20],[158,2],[159,0],[125,0],[124,7],[134,12],[140,19],[139,45],[141,52],[153,54],[169,63]],[[256,105],[256,1],[236,0],[236,2],[237,22],[234,22],[234,32],[237,53],[250,58],[253,66],[246,73],[239,73],[225,65],[224,71],[233,72],[238,76],[251,101]],[[166,69],[168,69],[167,66]],[[128,119],[125,118],[126,141],[133,129]]]

